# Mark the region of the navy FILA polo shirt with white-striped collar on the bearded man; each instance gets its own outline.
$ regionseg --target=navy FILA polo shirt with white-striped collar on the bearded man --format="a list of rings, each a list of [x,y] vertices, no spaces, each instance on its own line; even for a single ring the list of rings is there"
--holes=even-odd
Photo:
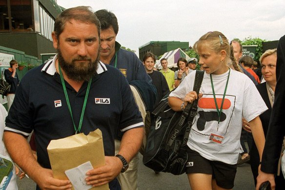
[[[25,136],[34,130],[38,162],[44,168],[50,168],[46,150],[49,142],[75,134],[60,75],[55,69],[56,59],[57,56],[23,77],[5,127],[6,131]],[[65,82],[76,127],[79,125],[87,84],[85,82],[76,92]],[[87,135],[99,128],[105,155],[113,156],[118,130],[124,132],[135,127],[143,127],[143,123],[128,82],[118,69],[99,63],[97,74],[92,78],[81,132]]]

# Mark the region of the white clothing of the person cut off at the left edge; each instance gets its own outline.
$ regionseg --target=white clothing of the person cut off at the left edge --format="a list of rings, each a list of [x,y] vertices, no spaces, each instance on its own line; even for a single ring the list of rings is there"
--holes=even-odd
[[[7,116],[7,111],[3,105],[0,104],[0,155],[1,157],[5,157],[8,160],[11,160],[5,146],[3,143],[3,132],[5,127],[5,118]],[[0,181],[1,182],[1,181]],[[3,185],[3,184],[1,184]],[[1,187],[0,187],[1,188]],[[18,190],[17,181],[16,181],[16,174],[15,174],[15,165],[13,168],[13,175],[10,179],[9,185],[7,186],[6,190]]]

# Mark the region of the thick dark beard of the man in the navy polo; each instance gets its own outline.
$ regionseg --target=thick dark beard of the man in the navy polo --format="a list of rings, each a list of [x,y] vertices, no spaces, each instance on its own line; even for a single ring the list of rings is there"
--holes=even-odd
[[[76,82],[89,81],[96,73],[99,54],[97,59],[92,62],[90,57],[77,56],[71,63],[67,63],[62,57],[61,50],[58,49],[59,66],[64,70],[66,76]],[[88,63],[76,63],[76,61],[85,60]]]

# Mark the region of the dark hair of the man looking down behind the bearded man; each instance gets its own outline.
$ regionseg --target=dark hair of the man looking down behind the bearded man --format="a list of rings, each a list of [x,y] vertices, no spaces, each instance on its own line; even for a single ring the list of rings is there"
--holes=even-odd
[[[106,9],[102,9],[95,12],[95,15],[99,19],[101,23],[101,29],[105,30],[108,29],[110,26],[112,26],[115,34],[118,34],[119,31],[119,25],[117,17],[114,13],[107,11]]]

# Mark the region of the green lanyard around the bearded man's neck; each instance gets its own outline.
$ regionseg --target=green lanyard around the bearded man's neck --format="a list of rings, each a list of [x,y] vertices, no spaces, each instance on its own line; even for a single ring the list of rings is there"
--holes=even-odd
[[[87,98],[88,98],[88,94],[89,94],[92,78],[88,82],[88,86],[87,86],[87,90],[86,90],[86,94],[85,94],[85,98],[84,98],[84,103],[83,103],[83,107],[82,107],[82,111],[81,111],[80,122],[79,122],[79,126],[78,126],[78,129],[77,129],[76,126],[75,126],[74,120],[73,120],[71,106],[70,106],[70,103],[69,103],[69,98],[68,98],[68,94],[67,94],[67,91],[66,91],[66,86],[65,86],[65,83],[64,83],[64,79],[63,79],[63,76],[62,76],[61,66],[60,65],[59,65],[59,70],[60,70],[61,84],[62,84],[62,88],[63,88],[63,91],[64,91],[66,103],[67,103],[67,106],[68,106],[68,109],[69,109],[69,113],[70,113],[70,116],[71,116],[71,119],[72,119],[72,122],[73,122],[73,127],[74,127],[74,130],[75,130],[75,134],[77,134],[78,132],[80,133],[80,130],[81,130],[82,121],[83,121],[83,115],[84,115],[84,111],[85,111],[85,107],[86,107],[86,102],[87,102]]]

